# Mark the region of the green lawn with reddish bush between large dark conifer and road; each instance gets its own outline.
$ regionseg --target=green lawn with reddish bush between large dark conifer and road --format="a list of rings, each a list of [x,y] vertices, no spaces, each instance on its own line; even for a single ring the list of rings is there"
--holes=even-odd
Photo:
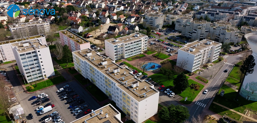
[[[188,87],[186,90],[184,90],[180,95],[181,97],[184,97],[183,99],[180,100],[181,103],[184,104],[190,104],[192,103],[192,101],[194,101],[194,98],[198,95],[198,93],[200,93],[202,91],[202,88],[204,87],[202,84],[195,82],[194,80],[188,80],[189,85],[191,84],[198,84],[200,85],[199,90],[195,90],[195,89],[191,89],[190,87]],[[176,93],[176,92],[174,92]],[[187,100],[185,101],[185,98],[187,97]]]

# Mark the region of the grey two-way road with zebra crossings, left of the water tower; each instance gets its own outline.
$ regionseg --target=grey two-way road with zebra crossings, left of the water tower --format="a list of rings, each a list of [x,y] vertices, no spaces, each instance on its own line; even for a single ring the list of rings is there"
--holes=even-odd
[[[242,56],[242,54],[241,54]],[[200,97],[195,101],[194,105],[188,107],[189,110],[189,120],[192,119],[192,117],[196,117],[198,114],[201,114],[201,112],[204,110],[206,107],[207,103],[210,101],[212,95],[216,93],[216,90],[218,89],[219,85],[221,84],[222,80],[227,76],[228,72],[224,72],[225,69],[232,69],[233,64],[236,64],[238,61],[240,61],[240,56],[225,56],[227,59],[227,63],[231,64],[226,64],[225,62],[222,63],[222,68],[220,71],[216,74],[213,80],[210,80],[210,84],[206,89],[208,89],[208,92],[206,94],[203,94],[202,92],[204,89],[199,93]],[[208,108],[208,107],[206,107]]]

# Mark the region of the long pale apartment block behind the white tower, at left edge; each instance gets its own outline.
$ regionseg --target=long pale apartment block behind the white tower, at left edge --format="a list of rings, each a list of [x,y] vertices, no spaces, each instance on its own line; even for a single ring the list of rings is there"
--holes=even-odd
[[[8,41],[1,41],[0,53],[2,57],[0,59],[0,63],[15,60],[11,44],[17,43],[19,41],[29,41],[29,40],[39,40],[42,42],[43,45],[46,44],[46,39],[44,35],[37,35],[37,36],[13,39]]]

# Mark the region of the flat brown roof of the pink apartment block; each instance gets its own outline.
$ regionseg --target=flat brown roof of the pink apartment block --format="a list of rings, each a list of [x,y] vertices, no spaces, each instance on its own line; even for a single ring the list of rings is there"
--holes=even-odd
[[[69,30],[62,30],[62,31],[59,31],[59,32],[61,32],[62,34],[64,34],[65,36],[69,37],[70,39],[72,39],[73,41],[75,41],[79,44],[89,42],[88,40],[78,36],[77,34],[71,32]]]

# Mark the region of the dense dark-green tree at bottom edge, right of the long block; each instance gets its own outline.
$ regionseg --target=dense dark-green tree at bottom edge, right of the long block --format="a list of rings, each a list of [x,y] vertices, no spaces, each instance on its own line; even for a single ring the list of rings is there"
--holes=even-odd
[[[186,107],[171,104],[168,107],[162,107],[159,112],[159,118],[164,123],[182,123],[190,116]]]

